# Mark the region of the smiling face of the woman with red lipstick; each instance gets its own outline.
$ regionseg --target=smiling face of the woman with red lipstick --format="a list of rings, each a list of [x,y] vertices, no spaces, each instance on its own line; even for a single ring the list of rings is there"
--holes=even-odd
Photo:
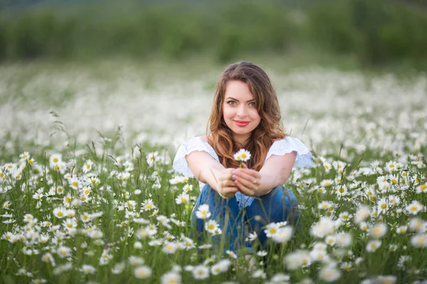
[[[233,131],[234,140],[243,145],[261,121],[248,84],[236,80],[227,82],[222,107],[224,121]]]

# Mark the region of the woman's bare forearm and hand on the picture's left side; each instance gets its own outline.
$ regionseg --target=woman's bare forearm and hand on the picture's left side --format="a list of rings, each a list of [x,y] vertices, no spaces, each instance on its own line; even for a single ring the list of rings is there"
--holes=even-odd
[[[238,188],[231,179],[233,168],[224,168],[221,163],[204,151],[191,152],[185,158],[197,180],[209,184],[215,190],[218,189],[218,192],[224,197],[234,196]]]

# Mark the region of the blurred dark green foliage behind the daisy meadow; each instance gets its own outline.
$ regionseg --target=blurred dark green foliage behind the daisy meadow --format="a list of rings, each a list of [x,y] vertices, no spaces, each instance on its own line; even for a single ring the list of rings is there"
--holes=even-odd
[[[330,53],[427,70],[423,0],[0,0],[0,60]]]

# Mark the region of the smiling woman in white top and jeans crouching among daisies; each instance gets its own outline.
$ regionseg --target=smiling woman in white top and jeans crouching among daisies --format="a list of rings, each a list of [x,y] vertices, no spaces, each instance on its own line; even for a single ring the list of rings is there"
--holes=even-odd
[[[284,190],[293,165],[310,166],[311,153],[298,139],[285,134],[280,125],[280,107],[268,75],[251,62],[229,65],[216,87],[206,136],[183,143],[174,159],[174,169],[201,182],[195,209],[209,204],[210,219],[223,233],[226,249],[249,249],[248,233],[256,233],[262,245],[263,227],[271,222],[295,224],[297,200]],[[233,154],[244,148],[251,159],[243,168]],[[195,210],[191,223],[204,231]]]

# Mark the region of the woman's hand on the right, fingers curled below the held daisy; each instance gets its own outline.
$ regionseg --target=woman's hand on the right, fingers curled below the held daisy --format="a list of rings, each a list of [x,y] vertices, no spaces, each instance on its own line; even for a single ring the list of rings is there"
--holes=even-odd
[[[243,195],[259,195],[261,175],[256,170],[248,169],[244,163],[243,168],[233,170],[233,180]]]

